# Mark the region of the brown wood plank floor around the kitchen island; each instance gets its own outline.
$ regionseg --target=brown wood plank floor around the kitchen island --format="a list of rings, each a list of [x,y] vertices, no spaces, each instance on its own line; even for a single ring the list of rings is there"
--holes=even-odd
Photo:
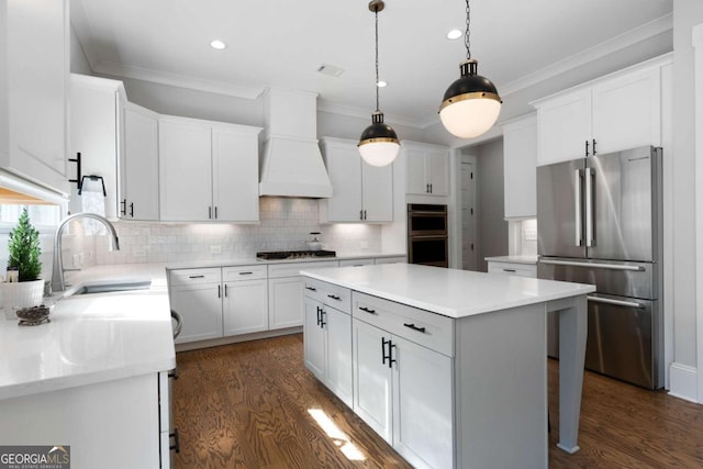
[[[179,353],[176,468],[410,467],[313,378],[302,355],[301,334]],[[558,364],[549,360],[550,468],[703,467],[703,406],[590,372],[581,450],[567,455],[556,447],[557,383]],[[338,432],[328,436],[311,409]],[[349,448],[364,460],[348,459]]]

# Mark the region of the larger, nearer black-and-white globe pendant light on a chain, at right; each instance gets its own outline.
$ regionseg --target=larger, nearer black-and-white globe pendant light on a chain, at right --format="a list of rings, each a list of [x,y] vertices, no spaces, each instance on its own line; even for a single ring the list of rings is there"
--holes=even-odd
[[[466,0],[466,60],[459,64],[461,78],[453,82],[444,93],[439,119],[453,135],[473,138],[493,126],[501,112],[501,97],[495,86],[477,74],[478,62],[471,58],[469,23],[471,10]]]

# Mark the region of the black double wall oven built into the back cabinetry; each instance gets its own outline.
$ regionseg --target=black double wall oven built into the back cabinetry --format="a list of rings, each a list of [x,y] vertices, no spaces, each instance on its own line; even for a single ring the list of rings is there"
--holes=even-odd
[[[408,261],[449,267],[447,205],[408,204]]]

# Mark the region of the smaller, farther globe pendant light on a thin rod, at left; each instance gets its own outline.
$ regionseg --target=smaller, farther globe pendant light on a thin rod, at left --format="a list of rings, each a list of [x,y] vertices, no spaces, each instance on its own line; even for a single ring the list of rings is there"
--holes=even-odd
[[[378,12],[382,11],[382,0],[372,0],[369,10],[376,16],[376,111],[371,114],[371,125],[366,127],[359,139],[359,153],[361,158],[371,166],[387,166],[393,163],[400,149],[400,143],[395,131],[383,123],[383,113],[379,110],[378,92]]]

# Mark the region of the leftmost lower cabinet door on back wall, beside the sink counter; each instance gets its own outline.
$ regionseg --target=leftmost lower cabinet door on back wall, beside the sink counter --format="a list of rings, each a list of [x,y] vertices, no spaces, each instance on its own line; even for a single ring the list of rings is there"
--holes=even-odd
[[[171,308],[183,320],[177,344],[222,337],[222,293],[220,283],[174,286]]]

